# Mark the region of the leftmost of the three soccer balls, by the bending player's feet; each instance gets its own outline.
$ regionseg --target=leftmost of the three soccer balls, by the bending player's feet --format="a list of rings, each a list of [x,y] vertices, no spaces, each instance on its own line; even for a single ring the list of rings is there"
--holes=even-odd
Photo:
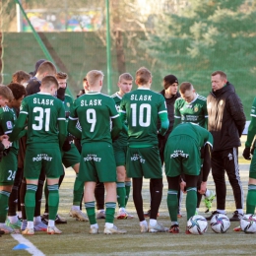
[[[207,230],[207,221],[203,216],[195,215],[187,221],[187,228],[193,234],[203,234]]]

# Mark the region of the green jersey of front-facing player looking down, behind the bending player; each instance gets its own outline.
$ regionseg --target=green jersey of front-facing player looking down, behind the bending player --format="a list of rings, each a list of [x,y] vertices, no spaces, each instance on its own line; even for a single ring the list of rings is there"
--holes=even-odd
[[[191,102],[178,97],[174,103],[174,127],[179,123],[196,123],[207,129],[208,112],[205,96],[196,94]]]

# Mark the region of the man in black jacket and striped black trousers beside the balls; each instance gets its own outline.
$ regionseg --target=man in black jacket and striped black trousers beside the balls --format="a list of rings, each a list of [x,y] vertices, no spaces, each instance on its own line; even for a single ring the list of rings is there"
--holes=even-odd
[[[239,175],[238,147],[245,126],[245,114],[234,87],[227,81],[223,71],[212,74],[212,92],[207,97],[208,130],[214,138],[212,173],[216,185],[217,211],[225,214],[226,187],[224,170],[233,190],[236,211],[230,222],[239,221],[243,215],[243,189]],[[207,220],[211,220],[212,216]]]

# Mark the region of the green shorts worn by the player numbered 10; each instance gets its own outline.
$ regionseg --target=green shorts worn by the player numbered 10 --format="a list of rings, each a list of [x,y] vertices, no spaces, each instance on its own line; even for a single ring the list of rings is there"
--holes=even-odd
[[[162,178],[159,147],[128,147],[126,171],[131,178]]]

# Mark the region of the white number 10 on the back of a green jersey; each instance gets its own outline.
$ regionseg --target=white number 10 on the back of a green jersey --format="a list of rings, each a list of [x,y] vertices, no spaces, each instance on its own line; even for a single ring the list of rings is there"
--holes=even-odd
[[[137,103],[131,104],[131,109],[132,109],[132,126],[136,127],[137,121],[138,121]],[[141,127],[149,127],[151,125],[151,105],[148,103],[143,103],[140,105],[139,125]]]

